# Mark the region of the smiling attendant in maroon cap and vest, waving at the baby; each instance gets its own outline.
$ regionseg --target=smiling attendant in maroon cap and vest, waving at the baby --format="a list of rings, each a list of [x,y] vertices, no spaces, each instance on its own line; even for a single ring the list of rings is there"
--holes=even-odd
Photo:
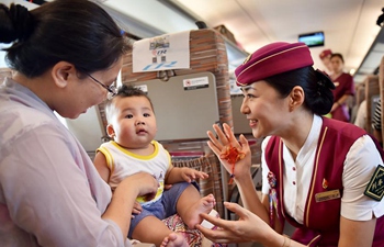
[[[304,43],[278,42],[235,70],[244,93],[240,111],[253,137],[266,137],[262,195],[255,189],[245,136],[237,141],[229,125],[224,131],[214,125],[208,146],[233,175],[245,209],[225,203],[238,221],[203,214],[218,227],[196,226],[210,239],[270,247],[384,246],[383,150],[360,127],[321,117],[332,106],[335,86],[312,66]],[[283,235],[286,223],[296,227],[291,238]]]

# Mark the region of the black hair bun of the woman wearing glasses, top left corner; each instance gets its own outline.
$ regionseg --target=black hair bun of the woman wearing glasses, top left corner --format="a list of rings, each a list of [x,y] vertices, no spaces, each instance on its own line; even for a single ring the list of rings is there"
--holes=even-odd
[[[0,23],[1,43],[23,42],[33,31],[33,16],[21,4],[0,4]]]

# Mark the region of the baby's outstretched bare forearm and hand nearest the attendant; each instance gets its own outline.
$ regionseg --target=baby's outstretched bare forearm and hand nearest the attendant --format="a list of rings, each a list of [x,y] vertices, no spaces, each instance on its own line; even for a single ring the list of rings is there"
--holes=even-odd
[[[189,167],[170,167],[166,175],[166,183],[173,184],[177,182],[192,182],[196,178],[206,179],[210,176]]]

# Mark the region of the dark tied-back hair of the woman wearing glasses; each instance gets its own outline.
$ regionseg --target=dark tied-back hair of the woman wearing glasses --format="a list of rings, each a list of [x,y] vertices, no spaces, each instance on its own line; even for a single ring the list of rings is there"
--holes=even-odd
[[[113,19],[88,0],[55,0],[32,11],[0,4],[0,43],[13,42],[4,48],[9,67],[30,78],[61,60],[80,74],[104,70],[129,48]]]

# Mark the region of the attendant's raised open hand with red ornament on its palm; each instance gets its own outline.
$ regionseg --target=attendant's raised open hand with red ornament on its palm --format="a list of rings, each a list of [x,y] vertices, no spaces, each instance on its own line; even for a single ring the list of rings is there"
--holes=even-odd
[[[214,135],[214,133],[208,131],[207,135],[211,141],[208,141],[207,144],[221,160],[225,169],[229,173],[234,173],[235,179],[241,178],[242,175],[249,175],[251,166],[251,154],[247,138],[244,135],[240,135],[239,142],[237,142],[228,124],[223,124],[224,132],[217,124],[214,124],[213,128],[216,132],[217,137]],[[242,159],[238,160],[234,168],[233,164],[230,164],[227,159],[221,158],[221,156],[228,150],[228,147],[234,147],[240,155],[244,155]]]

